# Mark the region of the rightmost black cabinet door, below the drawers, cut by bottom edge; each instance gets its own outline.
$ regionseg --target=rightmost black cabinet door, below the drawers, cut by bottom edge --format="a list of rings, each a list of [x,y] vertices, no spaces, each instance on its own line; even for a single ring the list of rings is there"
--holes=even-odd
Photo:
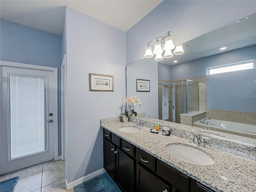
[[[169,192],[169,186],[160,179],[136,164],[137,192]]]

